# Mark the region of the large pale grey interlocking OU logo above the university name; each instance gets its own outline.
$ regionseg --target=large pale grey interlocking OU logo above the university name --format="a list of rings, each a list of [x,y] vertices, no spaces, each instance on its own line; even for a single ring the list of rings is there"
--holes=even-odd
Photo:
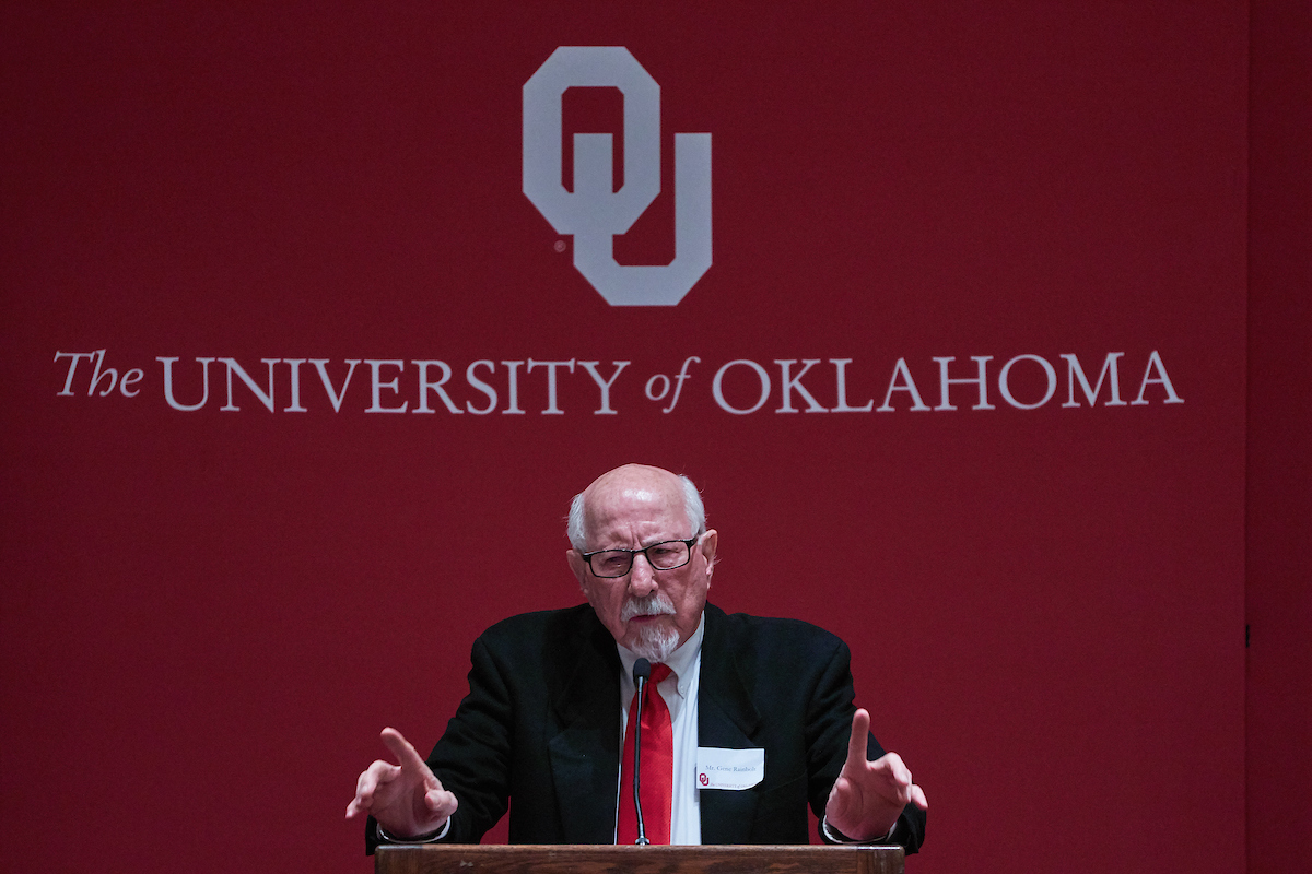
[[[560,98],[568,88],[625,97],[625,183],[611,191],[610,134],[575,134],[575,190],[560,181]],[[660,85],[623,46],[560,46],[523,84],[523,194],[556,233],[573,236],[575,267],[611,307],[673,307],[711,267],[711,135],[674,135],[674,261],[615,262],[660,194]]]

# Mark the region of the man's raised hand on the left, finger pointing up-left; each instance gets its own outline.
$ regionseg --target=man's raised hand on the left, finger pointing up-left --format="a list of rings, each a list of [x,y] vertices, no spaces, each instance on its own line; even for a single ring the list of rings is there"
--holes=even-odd
[[[442,828],[455,812],[455,795],[429,770],[396,729],[383,729],[383,743],[400,764],[375,761],[356,781],[346,819],[373,815],[388,835],[419,837]]]

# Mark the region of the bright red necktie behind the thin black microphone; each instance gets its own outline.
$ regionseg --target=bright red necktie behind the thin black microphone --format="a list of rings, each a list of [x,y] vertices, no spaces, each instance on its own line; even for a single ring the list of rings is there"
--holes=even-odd
[[[669,676],[668,664],[653,664],[652,679],[643,688],[643,826],[652,844],[669,844],[669,812],[674,797],[674,726],[669,708],[656,684]],[[638,693],[628,705],[625,751],[619,767],[619,820],[617,844],[638,840],[638,814],[634,811],[634,714]]]

